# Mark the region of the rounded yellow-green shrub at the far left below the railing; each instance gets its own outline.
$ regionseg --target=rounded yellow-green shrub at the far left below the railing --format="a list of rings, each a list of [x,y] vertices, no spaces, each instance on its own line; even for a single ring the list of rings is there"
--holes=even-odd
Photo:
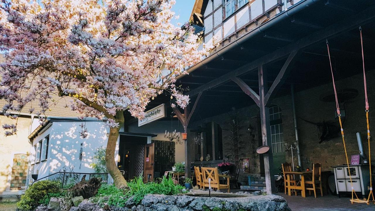
[[[60,193],[61,184],[57,181],[42,180],[30,185],[17,203],[20,210],[28,211],[39,205],[44,197],[52,193]],[[48,199],[49,202],[49,199]]]

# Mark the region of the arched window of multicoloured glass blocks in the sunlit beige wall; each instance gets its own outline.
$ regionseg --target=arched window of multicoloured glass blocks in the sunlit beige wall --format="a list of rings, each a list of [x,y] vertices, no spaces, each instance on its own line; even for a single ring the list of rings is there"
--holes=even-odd
[[[15,154],[13,157],[10,190],[21,190],[26,186],[28,155]]]

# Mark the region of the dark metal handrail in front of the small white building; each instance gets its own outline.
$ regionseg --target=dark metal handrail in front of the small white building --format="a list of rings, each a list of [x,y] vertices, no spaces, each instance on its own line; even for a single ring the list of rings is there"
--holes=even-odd
[[[36,179],[31,183],[31,185],[34,184],[34,182],[40,181],[42,179],[49,179],[53,181],[60,181],[61,187],[64,187],[64,184],[76,184],[77,182],[80,182],[84,175],[86,175],[86,180],[91,179],[92,177],[98,177],[102,178],[103,181],[108,181],[108,172],[107,173],[78,173],[78,172],[55,172],[48,176],[44,176],[40,179]],[[87,175],[89,175],[89,178],[87,178]]]

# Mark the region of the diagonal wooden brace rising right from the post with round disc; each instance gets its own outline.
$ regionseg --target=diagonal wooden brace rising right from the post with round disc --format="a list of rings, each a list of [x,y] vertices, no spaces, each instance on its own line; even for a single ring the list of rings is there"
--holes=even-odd
[[[273,81],[272,86],[268,90],[266,96],[264,96],[264,102],[267,104],[268,100],[271,96],[275,96],[277,90],[280,86],[284,83],[285,79],[288,77],[291,67],[293,67],[294,62],[296,62],[296,55],[301,51],[293,51],[289,54],[288,59],[285,61],[284,65],[282,66],[278,76],[276,77],[275,81]],[[298,56],[297,56],[298,57]]]

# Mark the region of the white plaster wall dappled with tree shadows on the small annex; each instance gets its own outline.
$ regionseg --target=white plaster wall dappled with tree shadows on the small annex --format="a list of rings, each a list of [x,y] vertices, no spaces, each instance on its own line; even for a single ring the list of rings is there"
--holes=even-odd
[[[38,178],[58,172],[64,166],[67,169],[74,167],[74,172],[94,172],[90,167],[92,157],[96,148],[107,145],[109,130],[103,122],[86,122],[89,135],[82,139],[79,134],[80,124],[81,122],[53,122],[51,127],[33,139],[35,145],[49,134],[48,158],[44,162],[34,164],[33,173],[39,170]],[[81,143],[83,143],[82,160],[79,159]],[[34,156],[35,152],[32,154]],[[118,154],[118,143],[115,154]]]

